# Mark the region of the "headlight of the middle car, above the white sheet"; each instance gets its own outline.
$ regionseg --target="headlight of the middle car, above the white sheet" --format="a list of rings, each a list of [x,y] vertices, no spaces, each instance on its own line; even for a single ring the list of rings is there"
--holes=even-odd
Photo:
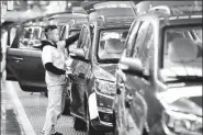
[[[95,80],[95,89],[105,94],[115,94],[115,83],[104,80]]]

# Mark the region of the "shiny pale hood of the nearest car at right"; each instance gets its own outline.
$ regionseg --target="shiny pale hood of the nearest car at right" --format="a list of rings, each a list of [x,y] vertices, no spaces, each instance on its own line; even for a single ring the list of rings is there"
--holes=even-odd
[[[202,86],[170,88],[158,97],[167,109],[202,116]]]

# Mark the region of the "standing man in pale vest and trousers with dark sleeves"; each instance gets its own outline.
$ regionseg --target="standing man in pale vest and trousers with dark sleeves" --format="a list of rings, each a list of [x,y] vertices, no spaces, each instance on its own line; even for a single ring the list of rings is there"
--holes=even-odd
[[[61,135],[55,126],[65,106],[66,75],[70,74],[70,70],[65,70],[65,48],[79,38],[79,33],[59,41],[57,26],[47,25],[45,35],[47,40],[42,42],[42,60],[46,69],[48,106],[43,131],[45,135]]]

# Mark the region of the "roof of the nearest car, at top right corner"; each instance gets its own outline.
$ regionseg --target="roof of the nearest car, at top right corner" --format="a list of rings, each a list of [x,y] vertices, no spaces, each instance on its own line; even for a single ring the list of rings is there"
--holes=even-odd
[[[162,1],[163,3],[170,1]],[[190,1],[190,3],[193,1]],[[158,2],[159,3],[159,2]],[[188,2],[185,2],[188,3]],[[147,13],[138,14],[137,19],[150,18],[160,20],[161,25],[187,25],[187,24],[202,24],[202,4],[184,4],[178,2],[176,5],[162,5],[161,2],[158,7],[153,7]],[[157,4],[156,4],[157,5]],[[167,23],[166,23],[167,22]]]

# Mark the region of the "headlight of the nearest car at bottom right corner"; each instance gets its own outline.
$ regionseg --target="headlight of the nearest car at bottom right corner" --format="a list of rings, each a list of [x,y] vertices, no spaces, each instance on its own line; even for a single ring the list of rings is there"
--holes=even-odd
[[[168,132],[202,134],[202,117],[192,114],[165,111],[162,113],[162,125]]]

